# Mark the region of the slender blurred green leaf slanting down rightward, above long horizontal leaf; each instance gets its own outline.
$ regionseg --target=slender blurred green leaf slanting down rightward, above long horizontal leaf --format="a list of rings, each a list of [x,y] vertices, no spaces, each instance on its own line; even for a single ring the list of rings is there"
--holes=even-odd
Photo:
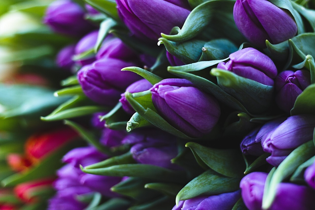
[[[72,122],[70,120],[65,120],[65,124],[69,125],[70,127],[72,127],[74,130],[76,130],[79,135],[89,144],[92,144],[97,150],[99,150],[102,153],[105,153],[106,155],[112,155],[112,152],[110,151],[110,149],[108,149],[107,147],[105,147],[104,145],[102,145],[100,143],[100,141],[98,139],[95,138],[95,136],[85,130],[81,125]]]

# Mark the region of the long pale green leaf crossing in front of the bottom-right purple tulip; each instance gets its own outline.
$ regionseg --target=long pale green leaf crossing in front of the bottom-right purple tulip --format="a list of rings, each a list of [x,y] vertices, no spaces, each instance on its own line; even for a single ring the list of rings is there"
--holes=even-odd
[[[268,209],[272,205],[277,193],[278,184],[288,178],[302,163],[311,158],[314,154],[315,147],[313,140],[311,140],[293,150],[290,155],[280,163],[272,175],[266,193],[264,193],[262,202],[263,209]]]

